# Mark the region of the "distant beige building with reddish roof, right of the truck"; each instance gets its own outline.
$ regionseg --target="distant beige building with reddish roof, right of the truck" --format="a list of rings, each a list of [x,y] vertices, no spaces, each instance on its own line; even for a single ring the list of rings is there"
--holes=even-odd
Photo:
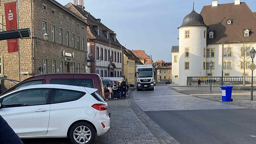
[[[172,81],[172,62],[158,60],[154,62],[157,70],[157,81]]]

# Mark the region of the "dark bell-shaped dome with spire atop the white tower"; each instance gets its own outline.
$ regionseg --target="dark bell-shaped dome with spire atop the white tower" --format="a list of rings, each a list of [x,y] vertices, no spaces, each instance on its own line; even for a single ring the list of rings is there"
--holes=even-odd
[[[186,27],[186,26],[205,26],[205,27],[208,27],[204,23],[203,17],[199,13],[195,12],[194,3],[193,3],[192,12],[184,17],[181,26],[178,27],[178,28]]]

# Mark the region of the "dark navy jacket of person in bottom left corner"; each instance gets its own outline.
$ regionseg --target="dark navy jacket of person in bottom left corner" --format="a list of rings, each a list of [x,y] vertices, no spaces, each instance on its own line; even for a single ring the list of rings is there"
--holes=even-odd
[[[23,144],[19,136],[0,115],[0,144]]]

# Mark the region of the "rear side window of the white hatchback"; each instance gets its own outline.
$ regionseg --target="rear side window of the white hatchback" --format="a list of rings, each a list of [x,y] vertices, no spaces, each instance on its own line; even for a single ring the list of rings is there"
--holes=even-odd
[[[75,101],[80,99],[84,95],[85,95],[85,92],[80,92],[80,91],[53,89],[51,104]]]

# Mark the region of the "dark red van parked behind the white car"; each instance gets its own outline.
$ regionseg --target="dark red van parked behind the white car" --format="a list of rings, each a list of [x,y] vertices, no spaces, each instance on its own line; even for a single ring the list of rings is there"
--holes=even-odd
[[[5,91],[3,94],[23,86],[35,84],[64,84],[96,88],[98,89],[97,93],[100,94],[101,97],[104,96],[103,84],[100,76],[98,74],[87,73],[57,73],[36,75],[23,80],[22,82]]]

